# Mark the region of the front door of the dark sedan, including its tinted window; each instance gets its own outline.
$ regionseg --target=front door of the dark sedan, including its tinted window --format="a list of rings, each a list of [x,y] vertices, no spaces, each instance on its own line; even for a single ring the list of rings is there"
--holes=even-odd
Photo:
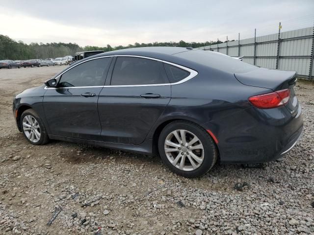
[[[101,125],[97,110],[112,57],[93,58],[61,74],[58,88],[48,88],[44,110],[50,134],[97,141]]]

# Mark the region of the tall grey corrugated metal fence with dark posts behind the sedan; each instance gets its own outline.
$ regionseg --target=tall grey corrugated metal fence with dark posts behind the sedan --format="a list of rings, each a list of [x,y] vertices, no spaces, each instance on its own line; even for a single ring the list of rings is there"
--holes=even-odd
[[[298,76],[313,79],[314,27],[281,32],[254,38],[198,47],[218,51],[229,56],[244,56],[243,61],[269,69],[297,71]],[[218,41],[218,40],[217,40]]]

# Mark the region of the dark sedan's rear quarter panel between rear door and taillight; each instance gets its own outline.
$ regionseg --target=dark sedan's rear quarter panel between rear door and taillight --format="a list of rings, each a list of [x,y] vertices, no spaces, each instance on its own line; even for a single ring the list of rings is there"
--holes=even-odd
[[[171,119],[189,120],[208,128],[208,123],[212,120],[251,107],[249,96],[271,92],[270,89],[245,86],[232,73],[204,67],[197,71],[196,77],[171,86],[171,100],[148,138],[153,138],[156,128]],[[215,134],[218,128],[220,127],[211,126],[210,131]]]

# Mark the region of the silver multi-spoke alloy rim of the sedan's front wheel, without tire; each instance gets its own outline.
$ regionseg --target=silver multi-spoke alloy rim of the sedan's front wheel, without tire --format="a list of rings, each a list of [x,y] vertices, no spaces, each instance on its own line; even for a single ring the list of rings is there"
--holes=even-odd
[[[31,115],[26,115],[22,123],[26,138],[34,143],[38,142],[40,140],[41,131],[36,118]]]

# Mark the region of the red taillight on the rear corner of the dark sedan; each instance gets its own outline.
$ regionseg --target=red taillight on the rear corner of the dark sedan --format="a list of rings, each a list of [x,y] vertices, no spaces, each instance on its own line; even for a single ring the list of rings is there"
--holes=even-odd
[[[259,109],[272,109],[285,105],[290,97],[290,89],[249,97],[249,101]]]

